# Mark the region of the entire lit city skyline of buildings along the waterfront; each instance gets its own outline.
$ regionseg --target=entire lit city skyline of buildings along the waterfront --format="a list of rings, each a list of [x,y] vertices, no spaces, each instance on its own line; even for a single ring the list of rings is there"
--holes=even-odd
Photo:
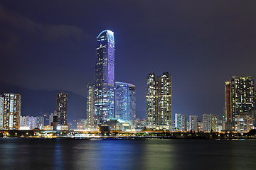
[[[225,114],[175,114],[171,121],[171,74],[150,73],[146,77],[146,120],[136,118],[136,86],[114,81],[114,33],[103,30],[97,36],[95,81],[87,84],[86,119],[75,120],[73,129],[107,126],[111,130],[171,130],[248,132],[256,127],[255,89],[251,77],[225,82]],[[47,120],[47,121],[46,121]],[[70,124],[70,125],[71,125]],[[21,95],[0,96],[0,130],[68,130],[68,94],[57,94],[56,111],[43,116],[21,116]]]

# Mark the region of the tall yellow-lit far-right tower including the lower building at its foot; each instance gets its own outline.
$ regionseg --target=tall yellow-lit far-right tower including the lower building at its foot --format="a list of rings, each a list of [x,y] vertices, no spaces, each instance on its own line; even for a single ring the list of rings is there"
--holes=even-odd
[[[254,80],[236,77],[225,82],[225,130],[250,130],[251,110],[255,107]],[[246,120],[246,121],[245,121]],[[247,128],[245,128],[247,127]]]

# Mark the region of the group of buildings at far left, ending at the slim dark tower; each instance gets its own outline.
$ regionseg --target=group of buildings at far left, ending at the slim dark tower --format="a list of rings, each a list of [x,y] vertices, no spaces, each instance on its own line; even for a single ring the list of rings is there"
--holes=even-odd
[[[20,94],[4,94],[0,96],[0,130],[68,130],[68,94],[57,94],[56,108],[45,125],[44,116],[21,116]]]

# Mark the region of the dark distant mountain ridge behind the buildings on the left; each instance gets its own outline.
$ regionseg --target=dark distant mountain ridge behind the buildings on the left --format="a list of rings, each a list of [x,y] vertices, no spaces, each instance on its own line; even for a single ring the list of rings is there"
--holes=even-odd
[[[68,123],[78,118],[86,118],[86,98],[71,91],[68,94]],[[0,94],[21,94],[21,115],[37,116],[50,114],[56,110],[56,96],[60,91],[29,90],[16,86],[0,86]]]

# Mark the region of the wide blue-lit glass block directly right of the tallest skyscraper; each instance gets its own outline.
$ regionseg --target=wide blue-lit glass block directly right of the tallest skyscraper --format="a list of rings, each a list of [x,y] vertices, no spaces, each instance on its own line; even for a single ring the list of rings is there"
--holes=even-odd
[[[136,120],[136,91],[133,84],[115,82],[115,118]]]

